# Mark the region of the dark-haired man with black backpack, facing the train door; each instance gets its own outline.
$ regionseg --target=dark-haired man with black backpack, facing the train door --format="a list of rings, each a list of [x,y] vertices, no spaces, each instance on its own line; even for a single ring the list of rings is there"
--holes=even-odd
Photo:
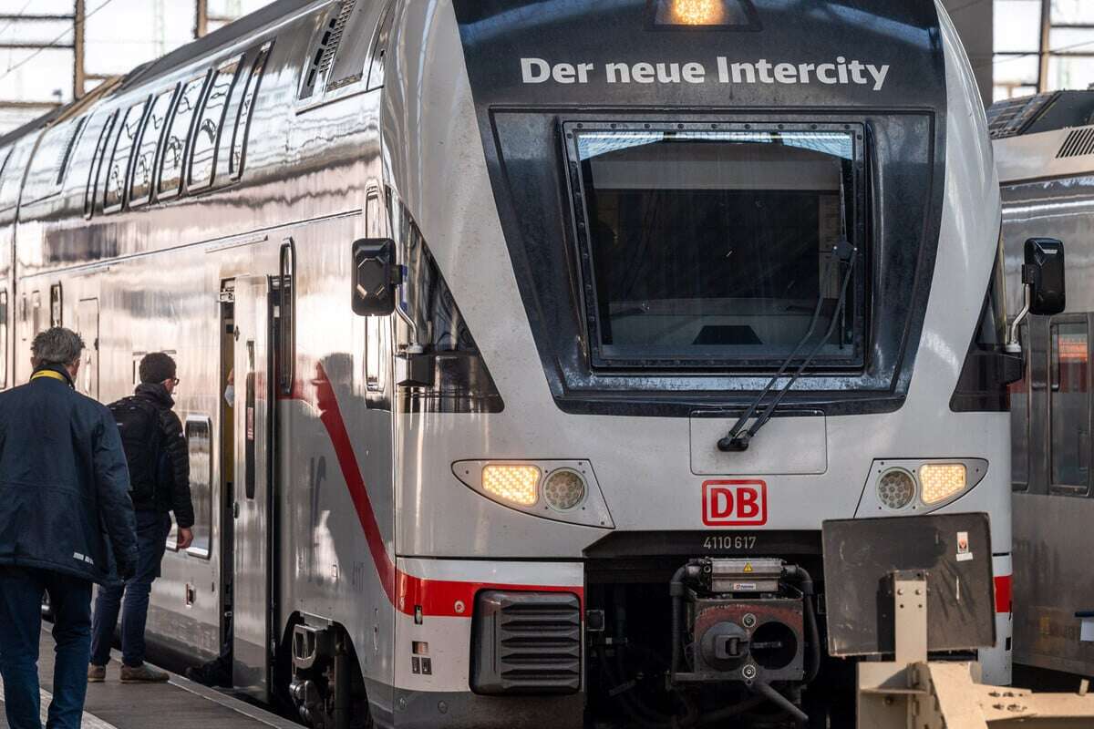
[[[183,424],[172,412],[171,393],[178,385],[175,361],[162,352],[140,361],[136,392],[110,403],[129,462],[131,495],[137,510],[137,575],[125,586],[108,586],[95,599],[91,665],[88,680],[106,678],[114,628],[121,612],[121,682],[166,681],[167,674],[144,663],[144,623],[152,581],[171,532],[171,512],[178,524],[178,549],[194,541],[194,505],[190,503],[190,460]],[[124,602],[123,605],[123,596]]]

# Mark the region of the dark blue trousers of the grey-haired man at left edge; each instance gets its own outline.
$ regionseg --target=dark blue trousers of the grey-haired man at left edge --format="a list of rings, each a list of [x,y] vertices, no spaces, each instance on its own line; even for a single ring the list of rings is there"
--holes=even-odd
[[[49,729],[79,729],[88,693],[91,583],[48,569],[0,567],[0,675],[11,729],[42,729],[38,639],[42,596],[54,614],[54,699]]]

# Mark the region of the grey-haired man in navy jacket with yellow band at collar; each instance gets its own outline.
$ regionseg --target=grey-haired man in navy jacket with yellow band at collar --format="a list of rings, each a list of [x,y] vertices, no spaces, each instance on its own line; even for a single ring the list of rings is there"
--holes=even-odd
[[[0,674],[12,729],[40,729],[38,637],[49,595],[57,659],[50,729],[78,729],[88,690],[92,583],[137,566],[129,475],[110,412],[77,392],[83,341],[31,344],[31,381],[0,393]]]

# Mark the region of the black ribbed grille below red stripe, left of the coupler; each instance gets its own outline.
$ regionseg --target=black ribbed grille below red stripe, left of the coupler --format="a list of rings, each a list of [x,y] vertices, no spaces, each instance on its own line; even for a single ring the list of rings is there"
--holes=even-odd
[[[472,690],[569,694],[581,687],[581,601],[570,592],[485,590],[475,600]]]

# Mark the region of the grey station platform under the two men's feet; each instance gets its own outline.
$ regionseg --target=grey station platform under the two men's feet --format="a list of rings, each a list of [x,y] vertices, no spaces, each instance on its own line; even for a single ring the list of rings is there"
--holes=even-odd
[[[54,639],[50,628],[48,623],[42,626],[38,655],[43,726],[53,697]],[[162,726],[165,717],[170,717],[172,726],[191,728],[300,729],[299,724],[175,673],[171,673],[167,683],[123,684],[118,678],[120,656],[114,651],[106,667],[106,681],[88,685],[83,729],[148,729]],[[0,683],[0,703],[2,701]],[[0,729],[8,729],[3,712],[0,712]]]

